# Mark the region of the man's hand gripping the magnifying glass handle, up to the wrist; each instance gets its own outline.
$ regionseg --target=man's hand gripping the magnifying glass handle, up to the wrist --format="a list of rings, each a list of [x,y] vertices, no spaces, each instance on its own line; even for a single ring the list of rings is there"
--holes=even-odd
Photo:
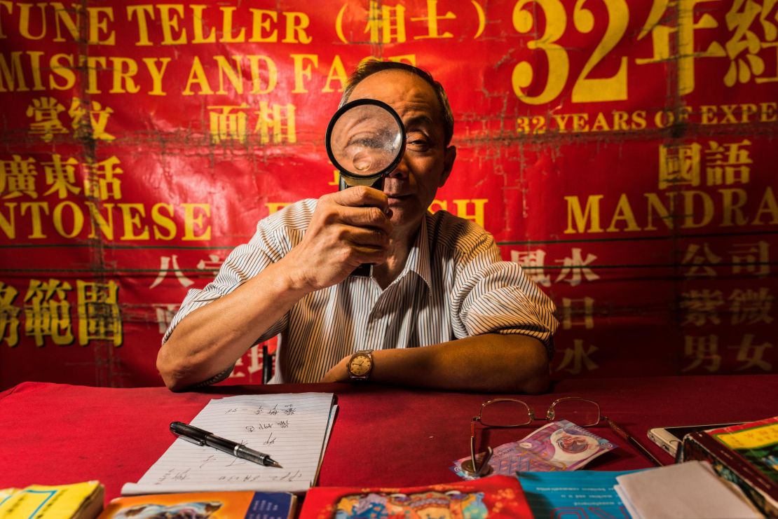
[[[384,263],[391,222],[387,196],[356,186],[318,200],[303,240],[279,261],[293,287],[316,291],[340,283],[361,263]]]

